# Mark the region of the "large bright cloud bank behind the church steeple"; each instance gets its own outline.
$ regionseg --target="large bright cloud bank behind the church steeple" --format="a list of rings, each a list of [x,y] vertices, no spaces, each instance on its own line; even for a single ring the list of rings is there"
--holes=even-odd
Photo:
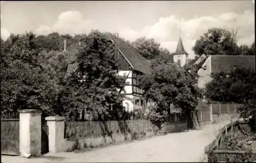
[[[196,15],[192,19],[179,19],[175,15],[159,18],[158,22],[141,31],[125,28],[121,29],[119,36],[130,41],[137,37],[145,36],[154,38],[161,43],[162,47],[174,52],[177,47],[179,36],[182,37],[185,50],[189,53],[189,58],[194,58],[195,54],[192,47],[197,39],[200,38],[210,28],[223,28],[238,31],[238,44],[251,44],[254,41],[254,13],[249,10],[242,14],[223,13],[216,17]],[[179,31],[181,32],[179,34]]]

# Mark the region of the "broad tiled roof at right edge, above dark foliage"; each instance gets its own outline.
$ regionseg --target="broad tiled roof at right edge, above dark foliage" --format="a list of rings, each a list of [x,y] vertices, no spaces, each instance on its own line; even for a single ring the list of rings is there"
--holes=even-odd
[[[255,56],[211,56],[211,72],[228,71],[233,66],[255,70]]]

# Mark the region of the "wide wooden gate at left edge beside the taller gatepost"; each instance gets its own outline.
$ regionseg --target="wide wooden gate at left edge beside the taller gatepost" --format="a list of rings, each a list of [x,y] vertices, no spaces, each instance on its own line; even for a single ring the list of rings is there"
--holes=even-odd
[[[1,154],[19,155],[19,114],[1,116]]]

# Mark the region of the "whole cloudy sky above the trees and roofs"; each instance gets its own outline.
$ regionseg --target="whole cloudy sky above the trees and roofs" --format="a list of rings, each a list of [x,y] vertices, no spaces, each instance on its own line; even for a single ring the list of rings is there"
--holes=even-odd
[[[32,31],[37,35],[118,33],[125,40],[154,38],[174,52],[179,37],[189,58],[210,28],[238,30],[238,44],[255,40],[254,2],[243,1],[1,1],[1,37]]]

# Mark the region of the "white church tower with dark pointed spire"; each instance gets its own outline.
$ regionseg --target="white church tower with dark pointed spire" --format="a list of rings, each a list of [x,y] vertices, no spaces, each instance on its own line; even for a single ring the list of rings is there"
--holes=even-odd
[[[179,39],[177,49],[173,53],[174,55],[174,62],[178,63],[181,67],[183,67],[188,60],[188,53],[185,51],[181,37]]]

